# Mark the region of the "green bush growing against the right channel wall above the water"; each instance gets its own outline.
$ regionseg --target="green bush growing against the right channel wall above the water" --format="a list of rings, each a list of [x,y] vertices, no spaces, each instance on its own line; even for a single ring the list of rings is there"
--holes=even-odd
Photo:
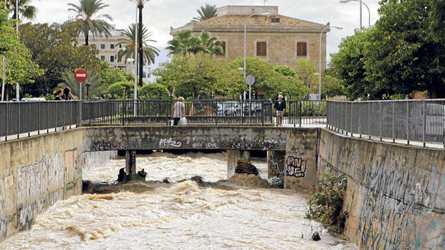
[[[320,222],[337,234],[343,233],[347,216],[342,212],[346,186],[346,176],[325,174],[307,202],[306,218]]]

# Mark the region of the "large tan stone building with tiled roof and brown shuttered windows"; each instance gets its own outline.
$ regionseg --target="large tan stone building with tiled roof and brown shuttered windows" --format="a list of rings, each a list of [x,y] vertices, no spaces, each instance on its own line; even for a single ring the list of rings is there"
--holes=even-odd
[[[296,67],[297,59],[319,63],[320,33],[326,25],[282,16],[277,6],[225,6],[217,16],[170,28],[175,35],[182,30],[194,34],[207,31],[222,42],[225,53],[218,57],[235,60],[244,56],[244,24],[252,14],[270,13],[270,17],[253,16],[247,21],[247,57],[258,57],[273,64]],[[322,67],[326,68],[326,29],[322,35]]]

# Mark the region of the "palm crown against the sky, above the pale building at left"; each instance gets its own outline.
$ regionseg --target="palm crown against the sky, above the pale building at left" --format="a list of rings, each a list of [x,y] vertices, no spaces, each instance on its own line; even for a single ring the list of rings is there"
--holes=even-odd
[[[108,14],[99,14],[99,12],[109,5],[104,4],[103,0],[79,0],[79,5],[68,4],[71,8],[68,11],[77,13],[75,20],[67,21],[66,23],[78,23],[80,26],[79,34],[83,33],[85,36],[85,45],[88,45],[90,32],[93,37],[105,34],[105,37],[111,36],[113,27],[107,23],[106,20],[113,21],[113,18]],[[104,19],[101,19],[104,18]]]

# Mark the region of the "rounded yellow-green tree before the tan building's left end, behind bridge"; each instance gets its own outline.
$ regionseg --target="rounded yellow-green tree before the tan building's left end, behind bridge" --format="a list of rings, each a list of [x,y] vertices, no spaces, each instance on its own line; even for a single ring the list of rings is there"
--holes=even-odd
[[[175,94],[196,98],[200,91],[217,94],[235,94],[245,89],[242,74],[222,59],[198,53],[175,55],[153,72],[158,82],[168,82]],[[166,86],[168,87],[168,86]]]

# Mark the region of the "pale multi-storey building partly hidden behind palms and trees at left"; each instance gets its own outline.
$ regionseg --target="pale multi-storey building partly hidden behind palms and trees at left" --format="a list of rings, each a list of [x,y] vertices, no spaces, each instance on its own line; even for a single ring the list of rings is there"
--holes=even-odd
[[[97,49],[99,49],[98,58],[102,61],[107,61],[111,67],[115,68],[116,66],[127,73],[134,73],[135,64],[134,63],[125,63],[125,60],[117,62],[117,52],[119,48],[122,48],[122,44],[119,44],[119,40],[125,38],[121,35],[120,29],[116,29],[115,27],[111,31],[111,36],[106,37],[102,36],[93,36],[90,33],[88,44],[95,45]],[[83,33],[80,33],[77,38],[78,44],[85,44],[85,36]],[[150,80],[151,77],[151,67],[150,65],[144,65],[144,82]]]

